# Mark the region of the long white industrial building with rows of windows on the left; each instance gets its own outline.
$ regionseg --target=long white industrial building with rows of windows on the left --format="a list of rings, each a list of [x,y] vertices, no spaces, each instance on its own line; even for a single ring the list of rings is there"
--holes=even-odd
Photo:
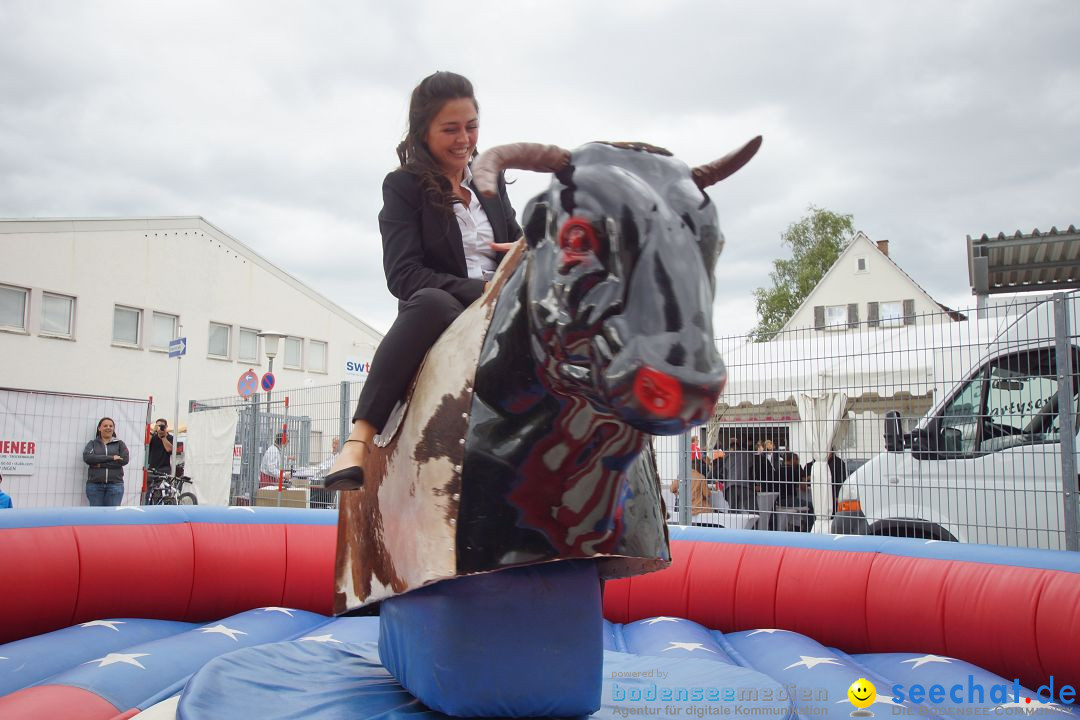
[[[347,362],[382,339],[201,217],[0,220],[0,388],[152,396],[183,422],[188,400],[268,369],[259,332],[285,336],[279,389],[355,380]]]

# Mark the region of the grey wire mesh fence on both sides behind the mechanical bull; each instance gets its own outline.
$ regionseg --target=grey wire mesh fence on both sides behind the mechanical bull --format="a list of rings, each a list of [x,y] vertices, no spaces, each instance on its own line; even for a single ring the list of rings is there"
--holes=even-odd
[[[767,342],[718,339],[729,380],[713,420],[652,441],[669,520],[1080,549],[1078,303],[904,303],[862,322],[815,313],[816,327]],[[238,412],[232,502],[334,506],[321,478],[361,386],[191,403]],[[291,483],[260,488],[286,424]]]

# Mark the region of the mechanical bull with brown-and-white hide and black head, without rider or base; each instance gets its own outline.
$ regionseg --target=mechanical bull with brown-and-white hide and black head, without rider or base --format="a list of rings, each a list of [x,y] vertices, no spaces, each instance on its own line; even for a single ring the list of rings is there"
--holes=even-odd
[[[704,422],[725,382],[713,342],[724,244],[703,189],[755,138],[689,168],[639,144],[519,144],[473,165],[553,172],[525,237],[428,353],[341,493],[336,610],[441,580],[596,558],[602,578],[671,561],[648,437]]]

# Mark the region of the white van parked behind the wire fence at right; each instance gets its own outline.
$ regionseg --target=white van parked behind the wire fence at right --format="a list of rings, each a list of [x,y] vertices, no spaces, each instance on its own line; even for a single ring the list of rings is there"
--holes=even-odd
[[[1076,373],[1080,297],[1064,304]],[[845,483],[833,532],[1066,547],[1054,327],[1053,301],[1034,307],[910,434],[887,420],[888,450]]]

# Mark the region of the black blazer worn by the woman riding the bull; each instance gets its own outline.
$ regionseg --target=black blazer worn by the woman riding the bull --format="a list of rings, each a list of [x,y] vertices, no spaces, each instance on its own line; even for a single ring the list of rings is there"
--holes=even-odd
[[[501,175],[497,195],[476,194],[491,223],[495,242],[510,243],[521,237],[522,229],[514,219]],[[463,305],[471,304],[483,293],[484,281],[470,279],[465,269],[457,217],[431,204],[418,175],[401,168],[387,175],[382,181],[379,230],[387,287],[401,302],[424,287],[446,290]],[[502,255],[496,259],[502,260]]]

